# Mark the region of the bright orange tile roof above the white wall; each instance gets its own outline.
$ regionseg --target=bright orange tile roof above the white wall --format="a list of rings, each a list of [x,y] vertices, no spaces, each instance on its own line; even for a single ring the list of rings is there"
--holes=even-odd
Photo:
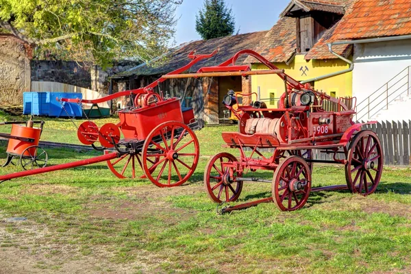
[[[336,40],[411,34],[411,0],[358,0],[335,32]]]

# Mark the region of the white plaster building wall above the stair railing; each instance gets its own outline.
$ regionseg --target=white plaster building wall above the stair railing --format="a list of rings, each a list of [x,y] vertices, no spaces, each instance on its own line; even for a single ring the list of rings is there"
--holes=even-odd
[[[371,108],[375,107],[375,110],[378,110],[386,105],[386,100],[384,100],[386,86],[384,84],[411,66],[411,39],[355,45],[353,62],[353,96],[357,97],[358,103],[360,103],[380,89],[376,95],[371,95],[370,98]],[[389,82],[388,93],[394,92],[397,88],[399,88],[397,92],[401,92],[407,88],[408,82],[411,85],[411,79],[408,79],[410,77],[407,77],[407,74],[408,70]],[[384,94],[384,97],[381,93]],[[391,99],[394,97],[390,97],[388,101]],[[384,102],[379,103],[380,101]],[[365,105],[366,103],[360,105],[358,112]]]

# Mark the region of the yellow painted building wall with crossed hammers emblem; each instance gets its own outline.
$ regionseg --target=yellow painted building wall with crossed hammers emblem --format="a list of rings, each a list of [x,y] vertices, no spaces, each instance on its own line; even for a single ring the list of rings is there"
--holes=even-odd
[[[343,60],[304,60],[304,55],[296,55],[294,60],[287,66],[285,63],[274,63],[279,69],[284,69],[285,72],[297,81],[304,81],[334,73],[336,71],[343,71],[349,68],[349,64]],[[306,75],[303,71],[306,71]],[[253,64],[251,69],[267,69],[263,64]],[[308,70],[307,70],[308,69]],[[352,95],[352,72],[343,73],[334,77],[328,77],[314,82],[315,90],[322,90],[330,95],[330,92],[336,92],[336,97],[345,97]],[[262,99],[269,99],[270,93],[274,92],[275,97],[279,98],[284,93],[284,82],[277,75],[253,75],[251,78],[251,85],[253,92],[257,92],[260,86],[260,95]],[[269,107],[276,107],[277,100],[264,100]]]

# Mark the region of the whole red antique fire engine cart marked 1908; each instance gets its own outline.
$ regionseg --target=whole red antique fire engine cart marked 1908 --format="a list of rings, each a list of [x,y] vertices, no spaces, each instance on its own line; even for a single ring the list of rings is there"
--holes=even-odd
[[[271,183],[272,196],[258,201],[223,208],[230,212],[263,202],[275,202],[280,210],[302,208],[310,192],[343,190],[360,195],[375,191],[382,175],[383,154],[377,135],[361,130],[361,123],[351,119],[354,108],[343,100],[318,92],[310,85],[300,84],[254,51],[239,51],[221,64],[235,66],[240,55],[251,55],[284,80],[285,92],[278,108],[267,108],[263,101],[234,109],[238,95],[224,99],[225,106],[238,117],[238,132],[223,132],[227,147],[238,149],[240,158],[230,153],[214,155],[206,166],[204,184],[216,203],[236,201],[245,182]],[[242,94],[251,97],[252,94]],[[325,111],[323,101],[331,101],[338,111]],[[355,103],[354,103],[355,105]],[[370,122],[373,123],[373,122]],[[262,149],[272,149],[264,155]],[[334,160],[314,160],[312,149],[334,155]],[[247,155],[248,154],[248,155]],[[338,155],[343,155],[340,159]],[[312,188],[312,166],[315,162],[344,164],[347,185]],[[247,171],[273,171],[273,179],[245,177]]]

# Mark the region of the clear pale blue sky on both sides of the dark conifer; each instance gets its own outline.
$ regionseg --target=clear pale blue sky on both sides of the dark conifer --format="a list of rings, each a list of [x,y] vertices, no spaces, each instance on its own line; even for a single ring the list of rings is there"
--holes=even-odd
[[[232,8],[236,19],[236,32],[240,28],[240,34],[247,34],[271,29],[290,0],[225,0],[225,3]],[[195,15],[202,7],[203,0],[183,0],[182,5],[177,8],[177,45],[201,39],[195,31]]]

